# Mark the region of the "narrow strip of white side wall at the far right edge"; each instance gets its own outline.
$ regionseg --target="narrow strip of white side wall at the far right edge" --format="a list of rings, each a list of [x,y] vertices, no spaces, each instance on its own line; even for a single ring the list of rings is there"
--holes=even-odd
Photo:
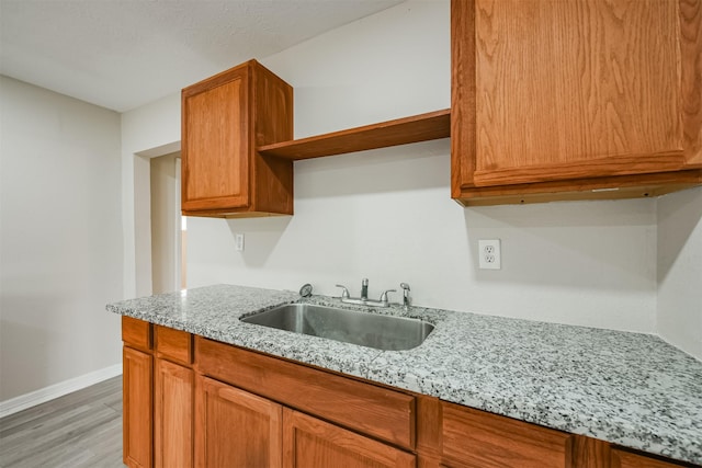
[[[702,187],[658,201],[657,329],[702,359]]]

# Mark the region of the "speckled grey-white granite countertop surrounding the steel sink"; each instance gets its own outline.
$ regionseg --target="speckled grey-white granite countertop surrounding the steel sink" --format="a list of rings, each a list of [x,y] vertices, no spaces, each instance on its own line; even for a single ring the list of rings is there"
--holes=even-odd
[[[702,464],[702,363],[657,336],[412,307],[373,309],[435,329],[378,351],[239,318],[339,299],[217,285],[107,305],[109,311],[652,454]]]

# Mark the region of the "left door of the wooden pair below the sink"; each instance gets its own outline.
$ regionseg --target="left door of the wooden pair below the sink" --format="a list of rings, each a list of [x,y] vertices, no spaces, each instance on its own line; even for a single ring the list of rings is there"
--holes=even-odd
[[[196,377],[195,466],[280,468],[282,407]]]

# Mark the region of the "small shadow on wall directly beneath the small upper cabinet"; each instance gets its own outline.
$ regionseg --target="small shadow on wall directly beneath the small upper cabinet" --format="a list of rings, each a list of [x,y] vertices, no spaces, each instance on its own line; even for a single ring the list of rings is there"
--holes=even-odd
[[[271,216],[268,218],[227,219],[231,232],[231,246],[236,246],[236,235],[245,237],[245,249],[241,259],[247,266],[264,266],[275,251],[275,246],[291,222],[291,216]],[[249,242],[247,242],[249,240]]]

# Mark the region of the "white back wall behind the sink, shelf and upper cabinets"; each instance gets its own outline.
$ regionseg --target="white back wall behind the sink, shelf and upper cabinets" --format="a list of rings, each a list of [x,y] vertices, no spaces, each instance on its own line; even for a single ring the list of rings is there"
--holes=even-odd
[[[449,107],[449,1],[410,1],[261,61],[295,88],[301,138]],[[179,103],[173,94],[123,115],[125,213],[134,216],[134,153],[178,149]],[[687,333],[694,342],[702,288],[690,281],[689,265],[666,266],[679,252],[699,255],[701,216],[690,207],[665,215],[688,206],[687,197],[699,199],[690,195],[699,190],[663,198],[658,217],[655,199],[462,208],[450,199],[449,152],[449,141],[439,140],[296,162],[295,216],[189,218],[189,287],[296,290],[312,282],[317,293],[337,294],[333,285],[346,283],[358,294],[367,276],[378,295],[405,281],[419,305],[660,329],[702,358],[680,339]],[[125,231],[132,242],[134,229]],[[660,258],[668,230],[690,235],[678,236]],[[237,232],[246,235],[245,252],[235,251]],[[503,269],[477,270],[477,239],[492,237],[502,240]],[[125,266],[134,266],[128,239],[125,246]],[[657,276],[660,269],[680,274]],[[126,269],[126,296],[139,275]],[[686,299],[673,304],[676,297]]]

